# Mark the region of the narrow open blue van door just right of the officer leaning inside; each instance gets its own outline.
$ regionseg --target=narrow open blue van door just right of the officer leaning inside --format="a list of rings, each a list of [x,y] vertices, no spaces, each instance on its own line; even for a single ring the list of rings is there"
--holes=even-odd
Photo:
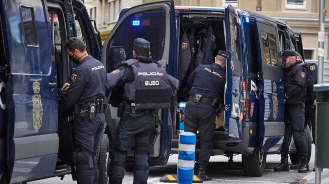
[[[226,33],[226,91],[225,91],[225,131],[229,136],[241,138],[243,118],[242,99],[242,58],[241,58],[241,18],[229,4],[225,8]]]

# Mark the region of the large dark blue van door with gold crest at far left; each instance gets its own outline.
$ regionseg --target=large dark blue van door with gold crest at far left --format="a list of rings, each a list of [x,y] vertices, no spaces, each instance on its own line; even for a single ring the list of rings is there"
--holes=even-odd
[[[2,0],[10,73],[6,84],[10,183],[54,174],[57,77],[45,0]]]

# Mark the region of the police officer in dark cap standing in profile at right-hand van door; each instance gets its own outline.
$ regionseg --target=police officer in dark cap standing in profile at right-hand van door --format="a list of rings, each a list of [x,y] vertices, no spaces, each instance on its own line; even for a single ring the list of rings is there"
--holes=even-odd
[[[294,50],[284,50],[282,60],[284,64],[284,90],[285,90],[285,132],[281,147],[281,163],[274,171],[289,171],[288,153],[291,130],[296,148],[300,153],[301,163],[298,172],[307,172],[307,144],[304,135],[305,121],[305,94],[306,69],[302,61],[296,61],[297,53]]]

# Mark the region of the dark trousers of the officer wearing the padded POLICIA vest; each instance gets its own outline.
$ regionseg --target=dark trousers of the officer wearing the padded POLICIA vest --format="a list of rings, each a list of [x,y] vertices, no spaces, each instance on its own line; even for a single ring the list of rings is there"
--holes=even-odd
[[[144,113],[139,117],[125,115],[120,119],[114,139],[114,153],[111,160],[111,180],[119,183],[124,177],[124,164],[127,150],[133,139],[134,146],[134,183],[147,182],[148,178],[148,141],[155,127],[155,117]],[[121,180],[122,182],[122,180]]]

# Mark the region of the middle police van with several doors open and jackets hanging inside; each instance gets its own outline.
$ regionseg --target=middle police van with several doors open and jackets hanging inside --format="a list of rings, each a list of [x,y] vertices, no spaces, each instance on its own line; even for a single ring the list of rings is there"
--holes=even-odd
[[[241,153],[244,173],[261,176],[266,155],[280,153],[284,135],[281,51],[295,49],[303,56],[301,33],[283,21],[235,9],[232,5],[226,8],[189,7],[174,6],[173,1],[154,2],[121,10],[117,24],[103,44],[102,61],[108,72],[113,71],[124,60],[132,58],[134,38],[149,40],[152,58],[180,80],[175,106],[181,106],[188,96],[188,90],[184,88],[188,70],[196,66],[191,62],[191,56],[183,55],[182,50],[191,49],[193,54],[199,51],[192,41],[184,41],[186,32],[191,29],[195,34],[207,35],[188,34],[194,36],[195,45],[203,47],[200,51],[211,53],[207,55],[211,60],[219,49],[226,50],[228,55],[224,124],[223,129],[215,132],[212,155],[226,155],[232,160],[233,155]],[[205,40],[208,44],[202,45]],[[172,109],[163,110],[161,134],[150,146],[150,165],[166,164],[169,154],[178,152],[179,133],[184,131],[179,127],[180,116],[183,115],[173,113]],[[113,108],[113,134],[118,121]],[[305,132],[310,148],[309,127]],[[197,155],[199,148],[197,135]],[[298,153],[293,141],[290,149],[290,159],[296,163]],[[132,161],[132,151],[127,159]],[[129,161],[126,168],[129,169]]]

